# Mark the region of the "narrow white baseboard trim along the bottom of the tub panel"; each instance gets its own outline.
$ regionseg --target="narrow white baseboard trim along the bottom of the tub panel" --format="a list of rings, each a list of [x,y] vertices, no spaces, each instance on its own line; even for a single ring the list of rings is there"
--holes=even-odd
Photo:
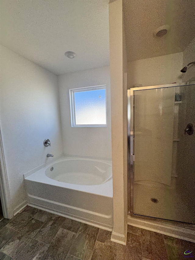
[[[41,205],[35,204],[33,202],[27,202],[27,205],[29,205],[30,207],[33,207],[33,208],[38,208],[38,209],[41,209],[41,210],[44,210],[44,211],[65,217],[65,218],[68,218],[68,219],[73,219],[73,220],[79,221],[81,223],[90,225],[90,226],[95,226],[95,227],[98,227],[98,228],[101,228],[101,229],[104,229],[104,230],[112,231],[111,226],[108,226],[108,225],[105,225],[105,224],[102,224],[102,223],[98,223],[98,222],[95,222],[95,221],[92,221],[92,220],[89,220],[89,219],[84,219],[84,218],[81,218],[81,217],[78,217],[78,216],[75,216],[75,215],[72,215],[72,214],[69,214],[69,213],[64,213],[62,211],[55,210],[55,209],[52,209],[52,208],[48,208],[48,207],[45,207],[45,206],[41,206]]]

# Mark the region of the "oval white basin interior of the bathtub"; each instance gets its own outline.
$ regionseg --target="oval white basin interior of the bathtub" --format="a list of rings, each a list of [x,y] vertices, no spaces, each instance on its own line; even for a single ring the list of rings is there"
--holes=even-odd
[[[45,175],[64,183],[99,185],[112,178],[112,165],[97,160],[69,159],[49,166]]]

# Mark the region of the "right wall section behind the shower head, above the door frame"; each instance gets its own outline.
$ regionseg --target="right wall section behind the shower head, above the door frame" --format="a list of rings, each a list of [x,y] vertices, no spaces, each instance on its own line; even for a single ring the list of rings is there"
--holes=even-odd
[[[195,61],[195,38],[190,44],[186,47],[183,52],[183,66],[186,66],[188,63]],[[186,71],[183,73],[183,82],[195,81],[195,65],[190,65]]]

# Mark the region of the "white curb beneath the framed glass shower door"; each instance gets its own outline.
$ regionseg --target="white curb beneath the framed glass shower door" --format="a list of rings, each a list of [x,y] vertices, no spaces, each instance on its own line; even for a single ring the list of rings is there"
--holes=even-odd
[[[161,233],[166,236],[176,237],[179,239],[183,239],[195,243],[195,232],[194,230],[188,228],[171,225],[168,223],[158,222],[154,220],[149,220],[149,219],[147,220],[147,219],[135,218],[130,215],[127,216],[127,223],[130,226],[139,227],[142,229]]]

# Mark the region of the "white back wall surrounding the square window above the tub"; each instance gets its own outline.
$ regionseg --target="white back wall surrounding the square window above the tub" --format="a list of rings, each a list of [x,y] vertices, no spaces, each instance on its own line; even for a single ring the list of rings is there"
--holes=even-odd
[[[71,127],[69,89],[107,86],[107,127]],[[66,155],[112,157],[109,66],[59,76],[63,151]]]

